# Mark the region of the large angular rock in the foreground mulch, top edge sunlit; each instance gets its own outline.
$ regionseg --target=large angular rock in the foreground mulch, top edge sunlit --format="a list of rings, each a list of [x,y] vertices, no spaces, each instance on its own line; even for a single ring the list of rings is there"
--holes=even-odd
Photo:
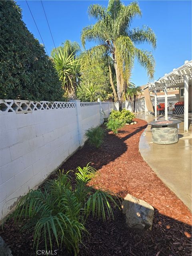
[[[126,223],[130,228],[150,229],[154,218],[154,208],[130,194],[122,202],[123,213],[126,214]]]

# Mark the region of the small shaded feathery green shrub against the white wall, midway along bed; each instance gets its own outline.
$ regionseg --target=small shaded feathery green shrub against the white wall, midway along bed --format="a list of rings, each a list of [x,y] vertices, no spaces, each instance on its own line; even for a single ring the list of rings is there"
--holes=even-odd
[[[91,146],[99,148],[103,142],[104,130],[100,126],[91,127],[85,131],[85,135],[88,138],[88,142]]]

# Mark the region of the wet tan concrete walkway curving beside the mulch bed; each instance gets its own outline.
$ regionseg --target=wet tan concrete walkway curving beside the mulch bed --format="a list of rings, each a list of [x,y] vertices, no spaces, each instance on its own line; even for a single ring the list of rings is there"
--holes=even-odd
[[[136,113],[136,118],[150,122],[154,116]],[[162,119],[164,116],[158,116]],[[171,117],[169,117],[171,118]],[[143,159],[157,176],[191,210],[192,206],[192,125],[184,132],[184,122],[179,124],[179,141],[175,144],[155,144],[152,142],[151,126],[144,130],[139,143]]]

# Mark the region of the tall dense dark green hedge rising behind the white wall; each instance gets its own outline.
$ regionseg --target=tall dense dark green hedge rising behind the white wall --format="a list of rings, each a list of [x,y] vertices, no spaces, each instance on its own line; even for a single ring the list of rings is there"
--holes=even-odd
[[[14,1],[0,1],[0,98],[62,100],[52,60],[22,21]]]

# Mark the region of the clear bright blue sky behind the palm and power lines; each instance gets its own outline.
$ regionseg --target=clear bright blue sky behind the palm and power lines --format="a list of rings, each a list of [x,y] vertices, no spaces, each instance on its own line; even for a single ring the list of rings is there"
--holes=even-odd
[[[42,40],[34,24],[26,1],[16,1],[22,8],[23,20],[30,32]],[[131,1],[123,1],[128,5]],[[139,48],[152,50],[156,60],[156,72],[154,80],[169,73],[173,68],[178,68],[184,64],[185,60],[192,58],[192,2],[185,0],[151,0],[138,1],[142,11],[142,18],[135,18],[132,28],[142,27],[143,24],[152,28],[157,36],[157,48],[152,50],[151,46],[142,44]],[[107,6],[108,1],[43,1],[44,9],[48,18],[51,32],[56,46],[65,40],[77,41],[80,43],[80,32],[84,26],[94,24],[95,20],[90,19],[87,14],[90,4],[99,3]],[[44,44],[50,54],[54,44],[49,32],[46,18],[40,1],[28,1],[38,29],[40,30]],[[90,48],[93,44],[86,44]],[[135,61],[132,70],[131,81],[137,86],[146,84],[149,79],[146,71]]]

